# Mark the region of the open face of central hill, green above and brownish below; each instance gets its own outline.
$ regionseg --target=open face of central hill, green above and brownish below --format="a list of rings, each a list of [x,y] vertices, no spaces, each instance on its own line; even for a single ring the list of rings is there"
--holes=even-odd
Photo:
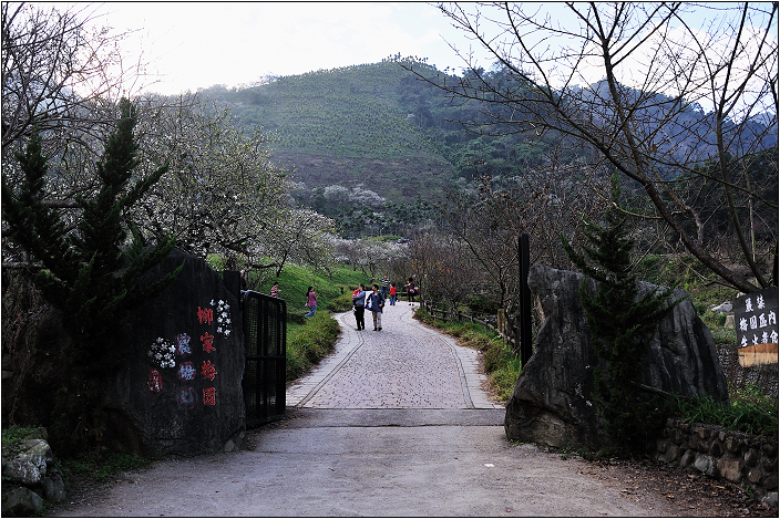
[[[452,165],[428,129],[431,106],[441,112],[448,101],[398,61],[203,93],[228,105],[247,128],[260,125],[273,133],[274,159],[309,190],[361,186],[390,203],[408,204],[441,193],[452,178]],[[335,209],[325,212],[336,216]]]

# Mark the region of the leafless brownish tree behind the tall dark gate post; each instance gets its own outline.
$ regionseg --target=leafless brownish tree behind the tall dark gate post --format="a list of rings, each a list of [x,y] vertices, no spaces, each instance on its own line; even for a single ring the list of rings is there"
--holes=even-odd
[[[533,235],[532,261],[571,268],[561,237],[578,240],[582,216],[597,219],[607,204],[591,190],[604,185],[605,178],[589,176],[578,164],[531,169],[509,178],[483,175],[448,194],[439,207],[445,222],[442,230],[462,240],[479,271],[496,288],[500,308],[516,310],[522,233]]]

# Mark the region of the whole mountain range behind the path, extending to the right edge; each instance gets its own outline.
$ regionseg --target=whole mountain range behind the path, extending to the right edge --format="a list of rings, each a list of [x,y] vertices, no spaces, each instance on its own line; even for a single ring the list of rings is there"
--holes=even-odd
[[[469,132],[459,122],[488,121],[480,104],[453,101],[407,70],[409,66],[433,83],[453,84],[459,80],[424,61],[396,55],[380,63],[275,77],[246,89],[212,87],[201,93],[229,107],[247,131],[260,125],[270,132],[275,136],[274,159],[296,183],[294,197],[335,218],[345,235],[365,232],[367,227],[383,232],[422,221],[432,214],[425,201],[440,199],[444,189],[461,178],[514,176],[546,164],[547,152],[555,152],[558,164],[577,160],[583,153],[582,143],[561,146],[565,136],[553,132],[541,136],[533,131],[499,136]],[[466,71],[464,79],[469,74],[476,77]],[[523,89],[507,71],[481,71],[481,79],[496,90]],[[705,131],[711,127],[711,114],[695,105],[677,106],[663,94],[620,89],[627,98],[643,100],[637,118],[642,131],[658,139],[655,144],[659,152],[711,157],[712,143]],[[605,95],[603,91],[604,85],[597,83],[587,92],[573,94],[598,96]],[[613,118],[608,106],[595,98],[585,101],[598,108],[592,114],[594,120]],[[510,111],[507,117],[517,115],[512,104],[493,108]],[[667,132],[657,132],[655,123],[673,108]],[[773,115],[761,114],[741,126],[729,122],[727,136],[733,127],[747,143],[762,138],[760,147],[776,146],[777,126],[766,132],[767,122],[772,121],[777,121]]]

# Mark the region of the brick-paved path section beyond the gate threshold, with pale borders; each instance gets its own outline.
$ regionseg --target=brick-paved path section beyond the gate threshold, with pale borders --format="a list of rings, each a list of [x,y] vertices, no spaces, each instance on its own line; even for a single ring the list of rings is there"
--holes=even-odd
[[[418,303],[386,305],[382,330],[356,330],[351,312],[337,314],[336,351],[287,390],[291,407],[331,409],[495,409],[483,388],[480,353],[412,318]]]

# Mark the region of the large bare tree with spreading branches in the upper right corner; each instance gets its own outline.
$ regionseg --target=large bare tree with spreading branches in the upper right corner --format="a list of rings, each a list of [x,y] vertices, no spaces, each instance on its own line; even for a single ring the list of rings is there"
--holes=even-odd
[[[758,189],[751,173],[757,154],[777,145],[777,3],[554,9],[565,12],[553,15],[538,4],[440,4],[495,60],[501,81],[469,53],[461,54],[470,66],[463,77],[442,77],[438,85],[480,104],[474,131],[553,132],[592,147],[596,154],[586,165],[634,180],[648,200],[642,216],[663,219],[725,282],[755,291],[752,276],[767,287],[770,261],[755,258],[772,250],[777,258],[778,200],[777,193]],[[702,13],[699,29],[692,20]],[[777,181],[777,166],[772,175]],[[722,201],[745,271],[716,256],[701,207],[681,196],[680,183],[694,177]],[[774,222],[769,242],[750,242],[740,205]]]

